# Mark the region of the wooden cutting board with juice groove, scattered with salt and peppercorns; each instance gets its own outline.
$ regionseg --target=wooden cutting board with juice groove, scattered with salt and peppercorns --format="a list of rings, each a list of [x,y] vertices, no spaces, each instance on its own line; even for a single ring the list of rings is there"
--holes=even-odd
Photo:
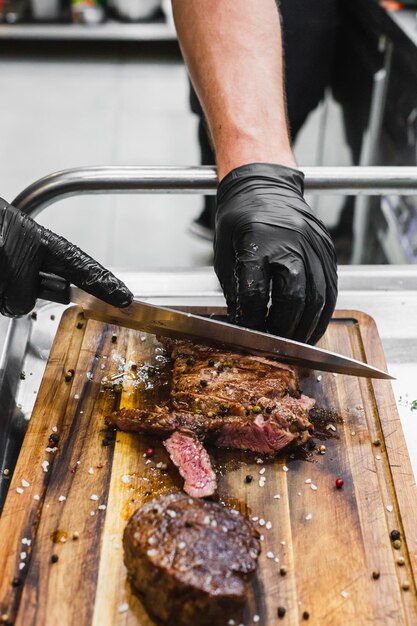
[[[386,367],[363,313],[338,312],[321,345]],[[121,536],[137,507],[181,481],[164,469],[160,442],[126,433],[109,441],[104,417],[118,404],[149,406],[166,395],[166,369],[155,337],[85,321],[77,308],[64,314],[0,518],[0,623],[155,623],[126,582]],[[103,391],[103,377],[123,372],[121,395]],[[242,624],[257,615],[260,625],[294,626],[307,612],[317,626],[415,625],[417,497],[391,385],[311,372],[302,387],[341,415],[318,442],[325,454],[258,463],[211,450],[220,500],[258,518],[264,537]],[[54,432],[58,449],[48,452]]]

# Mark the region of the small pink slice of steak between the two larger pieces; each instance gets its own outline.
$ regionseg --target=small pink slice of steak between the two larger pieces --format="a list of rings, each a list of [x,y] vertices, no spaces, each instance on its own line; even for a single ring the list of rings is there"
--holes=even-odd
[[[210,457],[194,437],[175,432],[164,441],[171,461],[184,479],[184,491],[194,498],[212,496],[217,489]]]

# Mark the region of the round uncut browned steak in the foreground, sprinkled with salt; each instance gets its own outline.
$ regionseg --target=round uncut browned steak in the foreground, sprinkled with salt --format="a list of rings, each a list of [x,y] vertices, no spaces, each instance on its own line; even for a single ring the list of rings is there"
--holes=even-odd
[[[132,585],[149,612],[169,626],[237,620],[260,553],[248,519],[182,493],[160,496],[136,511],[123,547]]]

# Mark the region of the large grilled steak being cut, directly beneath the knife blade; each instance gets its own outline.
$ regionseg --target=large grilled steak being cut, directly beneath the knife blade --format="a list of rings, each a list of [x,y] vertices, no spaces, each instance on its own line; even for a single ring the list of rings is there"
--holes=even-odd
[[[309,439],[315,401],[300,394],[294,369],[187,341],[164,343],[173,360],[169,402],[151,412],[116,411],[111,424],[159,437],[179,431],[216,446],[266,454]]]

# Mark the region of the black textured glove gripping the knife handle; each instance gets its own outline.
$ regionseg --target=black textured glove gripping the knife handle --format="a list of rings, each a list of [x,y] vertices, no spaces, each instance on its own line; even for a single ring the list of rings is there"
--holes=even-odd
[[[97,261],[0,198],[0,313],[15,317],[33,309],[39,272],[57,274],[114,306],[133,298]]]

